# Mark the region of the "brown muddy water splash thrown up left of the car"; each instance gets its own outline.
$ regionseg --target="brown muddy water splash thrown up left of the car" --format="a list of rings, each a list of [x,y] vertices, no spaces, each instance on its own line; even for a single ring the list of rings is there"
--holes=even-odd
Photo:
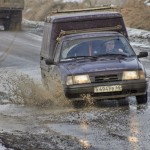
[[[39,81],[29,75],[5,71],[0,74],[1,88],[7,93],[13,104],[23,104],[40,107],[67,107],[70,105],[63,94],[62,87],[57,80],[49,78],[49,90]]]

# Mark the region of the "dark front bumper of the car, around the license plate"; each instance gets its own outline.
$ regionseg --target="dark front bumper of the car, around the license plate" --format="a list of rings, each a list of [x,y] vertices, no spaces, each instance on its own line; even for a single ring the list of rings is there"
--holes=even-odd
[[[122,91],[94,93],[94,87],[121,85]],[[108,83],[91,83],[65,87],[65,95],[72,100],[82,99],[82,95],[90,95],[94,99],[117,99],[129,96],[144,95],[147,92],[148,80],[134,80]]]

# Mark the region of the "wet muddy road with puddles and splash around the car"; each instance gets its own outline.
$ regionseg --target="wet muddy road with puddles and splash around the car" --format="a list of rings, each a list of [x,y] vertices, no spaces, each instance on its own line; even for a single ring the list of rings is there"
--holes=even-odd
[[[41,85],[41,40],[27,31],[0,31],[0,150],[148,150],[149,91],[147,105],[134,97],[64,105],[58,91],[47,95]],[[150,52],[149,39],[131,40],[137,52]],[[150,57],[142,62],[150,76]]]

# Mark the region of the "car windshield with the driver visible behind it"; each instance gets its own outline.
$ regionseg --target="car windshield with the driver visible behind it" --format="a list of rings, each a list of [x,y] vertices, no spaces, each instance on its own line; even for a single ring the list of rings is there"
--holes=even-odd
[[[116,54],[116,55],[115,55]],[[129,42],[124,37],[88,37],[64,41],[61,49],[61,61],[81,56],[133,56]],[[87,57],[90,58],[90,57]]]

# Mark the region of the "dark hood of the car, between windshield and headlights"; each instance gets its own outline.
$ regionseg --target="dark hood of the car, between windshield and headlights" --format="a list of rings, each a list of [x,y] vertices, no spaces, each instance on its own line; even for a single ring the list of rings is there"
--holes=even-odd
[[[61,63],[60,68],[67,74],[83,74],[90,72],[100,71],[113,71],[113,70],[136,70],[139,64],[136,57],[134,58],[108,58],[100,60],[75,60],[73,62]]]

